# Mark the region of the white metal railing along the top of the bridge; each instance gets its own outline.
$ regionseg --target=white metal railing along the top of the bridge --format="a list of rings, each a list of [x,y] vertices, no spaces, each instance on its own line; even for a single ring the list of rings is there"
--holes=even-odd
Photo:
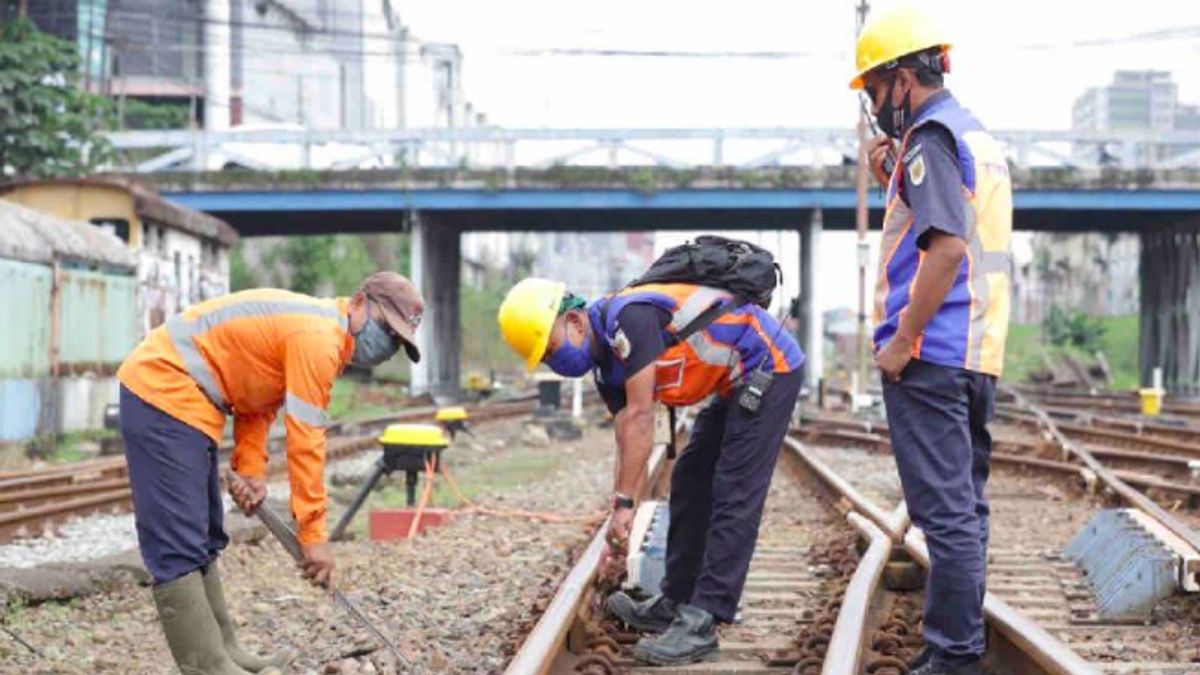
[[[995,131],[1018,167],[1200,167],[1200,132]],[[853,163],[852,129],[404,129],[119,131],[115,149],[137,173],[395,167],[500,168],[668,166],[676,168]]]

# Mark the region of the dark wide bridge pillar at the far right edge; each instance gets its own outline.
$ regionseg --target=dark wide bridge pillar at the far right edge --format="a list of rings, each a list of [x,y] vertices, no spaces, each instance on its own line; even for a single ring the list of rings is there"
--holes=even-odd
[[[1141,384],[1200,394],[1200,222],[1141,233]]]

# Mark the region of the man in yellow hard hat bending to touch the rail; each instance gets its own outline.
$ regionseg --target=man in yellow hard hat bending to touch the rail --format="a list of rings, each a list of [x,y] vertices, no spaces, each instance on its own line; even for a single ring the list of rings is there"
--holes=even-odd
[[[714,305],[731,305],[690,336]],[[593,370],[616,414],[618,473],[606,565],[624,560],[638,484],[654,444],[654,406],[714,399],[697,416],[671,476],[671,526],[662,593],[635,603],[613,595],[610,610],[646,632],[634,653],[661,665],[700,661],[718,649],[716,623],[732,622],[754,555],[767,488],[800,389],[804,354],[762,307],[734,306],[730,292],[691,283],[632,286],[590,305],[563,283],[526,279],[500,305],[505,341],[533,370],[565,377]],[[739,405],[743,381],[773,374],[756,411]]]

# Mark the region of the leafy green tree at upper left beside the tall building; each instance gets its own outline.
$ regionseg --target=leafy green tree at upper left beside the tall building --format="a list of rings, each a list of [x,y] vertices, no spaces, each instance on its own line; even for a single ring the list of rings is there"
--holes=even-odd
[[[90,173],[112,155],[97,135],[112,103],[83,91],[79,53],[19,18],[0,26],[0,175]]]

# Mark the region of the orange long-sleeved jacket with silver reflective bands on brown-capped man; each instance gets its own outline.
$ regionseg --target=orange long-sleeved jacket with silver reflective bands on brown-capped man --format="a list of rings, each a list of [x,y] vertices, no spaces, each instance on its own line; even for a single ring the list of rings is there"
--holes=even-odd
[[[302,544],[325,539],[325,411],[354,351],[349,299],[263,288],[206,300],[150,331],[116,372],[145,402],[220,443],[230,465],[266,474],[266,434],[283,407],[292,513]]]

